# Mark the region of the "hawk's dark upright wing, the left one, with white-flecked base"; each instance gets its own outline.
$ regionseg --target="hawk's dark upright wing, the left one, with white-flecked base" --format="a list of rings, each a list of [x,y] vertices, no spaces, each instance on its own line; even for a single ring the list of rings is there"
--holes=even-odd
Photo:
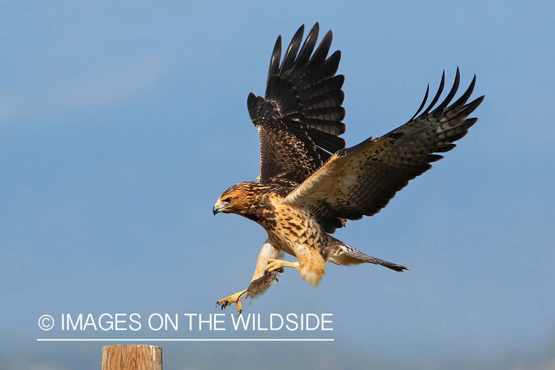
[[[302,47],[304,26],[299,28],[281,57],[281,36],[270,60],[265,97],[249,94],[247,108],[260,135],[260,181],[289,180],[302,183],[332,154],[345,148],[343,75],[335,75],[341,52],[327,58],[331,31],[321,40],[318,23]],[[297,55],[298,52],[298,55]]]

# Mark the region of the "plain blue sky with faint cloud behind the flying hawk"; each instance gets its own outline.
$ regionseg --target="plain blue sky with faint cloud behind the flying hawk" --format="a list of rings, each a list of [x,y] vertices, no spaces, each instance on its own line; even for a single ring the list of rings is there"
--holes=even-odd
[[[0,369],[98,368],[111,344],[37,338],[147,337],[335,339],[150,343],[173,369],[555,366],[551,2],[2,8]],[[476,73],[486,95],[455,150],[334,235],[414,270],[328,266],[316,289],[290,270],[245,308],[332,313],[329,332],[38,328],[45,314],[208,316],[246,286],[265,232],[211,207],[258,174],[246,97],[264,93],[275,39],[316,21],[342,51],[347,145],[405,123],[444,69],[450,84],[460,67],[461,90]]]

